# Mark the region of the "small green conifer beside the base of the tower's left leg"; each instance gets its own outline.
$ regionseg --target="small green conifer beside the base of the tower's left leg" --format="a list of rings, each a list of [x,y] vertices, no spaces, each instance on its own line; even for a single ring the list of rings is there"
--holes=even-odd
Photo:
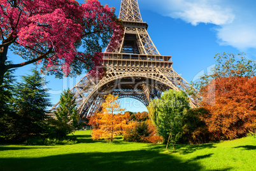
[[[76,113],[75,94],[64,90],[60,95],[60,104],[57,111],[54,111],[57,120],[68,124],[69,133],[78,128],[78,114]]]

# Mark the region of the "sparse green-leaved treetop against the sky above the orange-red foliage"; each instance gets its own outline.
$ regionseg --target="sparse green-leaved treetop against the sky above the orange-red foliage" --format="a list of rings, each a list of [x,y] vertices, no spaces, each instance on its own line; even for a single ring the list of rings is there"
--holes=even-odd
[[[199,81],[192,83],[197,90],[216,78],[236,76],[250,78],[256,76],[256,62],[246,59],[243,53],[218,53],[214,58],[217,58],[216,65],[211,68],[211,73],[203,74]]]

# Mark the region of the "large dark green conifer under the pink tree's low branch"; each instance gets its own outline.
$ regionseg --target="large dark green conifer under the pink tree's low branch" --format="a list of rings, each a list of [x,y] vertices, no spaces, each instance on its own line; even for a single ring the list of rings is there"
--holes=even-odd
[[[36,69],[32,75],[22,76],[22,82],[15,86],[13,109],[17,113],[14,129],[18,140],[45,134],[46,107],[50,106],[48,89]]]

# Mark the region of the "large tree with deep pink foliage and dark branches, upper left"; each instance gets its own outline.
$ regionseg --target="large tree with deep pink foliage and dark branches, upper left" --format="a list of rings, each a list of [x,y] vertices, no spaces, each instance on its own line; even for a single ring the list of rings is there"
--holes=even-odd
[[[114,11],[97,0],[0,0],[0,85],[8,69],[32,63],[60,78],[93,70],[123,36]],[[6,65],[8,50],[25,62]]]

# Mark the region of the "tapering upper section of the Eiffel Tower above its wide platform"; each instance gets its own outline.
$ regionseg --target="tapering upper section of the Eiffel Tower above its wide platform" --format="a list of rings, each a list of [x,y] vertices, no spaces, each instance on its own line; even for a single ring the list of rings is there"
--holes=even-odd
[[[124,38],[117,49],[107,47],[105,52],[160,55],[146,31],[148,24],[141,18],[137,0],[122,0],[119,18],[125,27]]]

